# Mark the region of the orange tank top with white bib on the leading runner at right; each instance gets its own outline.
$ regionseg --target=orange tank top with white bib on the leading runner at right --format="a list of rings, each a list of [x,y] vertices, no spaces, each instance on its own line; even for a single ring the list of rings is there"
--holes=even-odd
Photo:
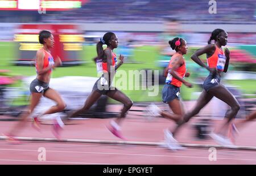
[[[226,56],[222,49],[215,45],[215,51],[212,56],[207,58],[207,65],[209,68],[217,68],[218,71],[224,71],[226,63]]]

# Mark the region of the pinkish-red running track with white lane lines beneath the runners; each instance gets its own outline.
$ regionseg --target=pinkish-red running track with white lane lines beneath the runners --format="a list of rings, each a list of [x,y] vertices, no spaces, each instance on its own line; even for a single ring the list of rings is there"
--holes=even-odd
[[[105,127],[110,119],[87,119],[73,121],[65,126],[63,139],[118,140]],[[213,140],[195,140],[193,119],[177,135],[180,143],[216,144]],[[220,125],[221,121],[214,121]],[[0,122],[0,132],[8,131],[16,122]],[[128,141],[163,141],[163,129],[174,123],[164,118],[147,121],[129,113],[122,124],[123,135]],[[256,123],[252,122],[241,131],[237,145],[256,146]],[[20,132],[22,137],[53,138],[51,125],[42,125],[42,132],[35,131],[30,123]],[[46,161],[39,161],[38,149],[46,149]],[[23,141],[9,144],[0,140],[0,164],[256,164],[255,151],[217,149],[217,161],[209,161],[207,148],[187,148],[184,151],[169,151],[156,146],[128,144],[88,144]]]

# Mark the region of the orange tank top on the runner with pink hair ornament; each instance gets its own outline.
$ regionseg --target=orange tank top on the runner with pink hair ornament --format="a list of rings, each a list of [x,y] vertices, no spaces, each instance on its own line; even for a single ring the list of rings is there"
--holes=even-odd
[[[179,53],[175,53],[174,55],[172,55],[171,60],[169,62],[169,66],[168,68],[172,68],[172,61],[174,61],[174,59],[177,56],[180,56],[181,54]],[[174,70],[177,74],[177,76],[179,76],[180,78],[184,78],[185,73],[186,73],[186,63],[185,63],[185,59],[183,58],[183,65],[181,65],[180,67],[178,67],[176,70]],[[182,82],[177,80],[176,78],[174,78],[170,72],[168,72],[167,78],[166,78],[166,84],[172,84],[175,85],[176,87],[181,87]]]

